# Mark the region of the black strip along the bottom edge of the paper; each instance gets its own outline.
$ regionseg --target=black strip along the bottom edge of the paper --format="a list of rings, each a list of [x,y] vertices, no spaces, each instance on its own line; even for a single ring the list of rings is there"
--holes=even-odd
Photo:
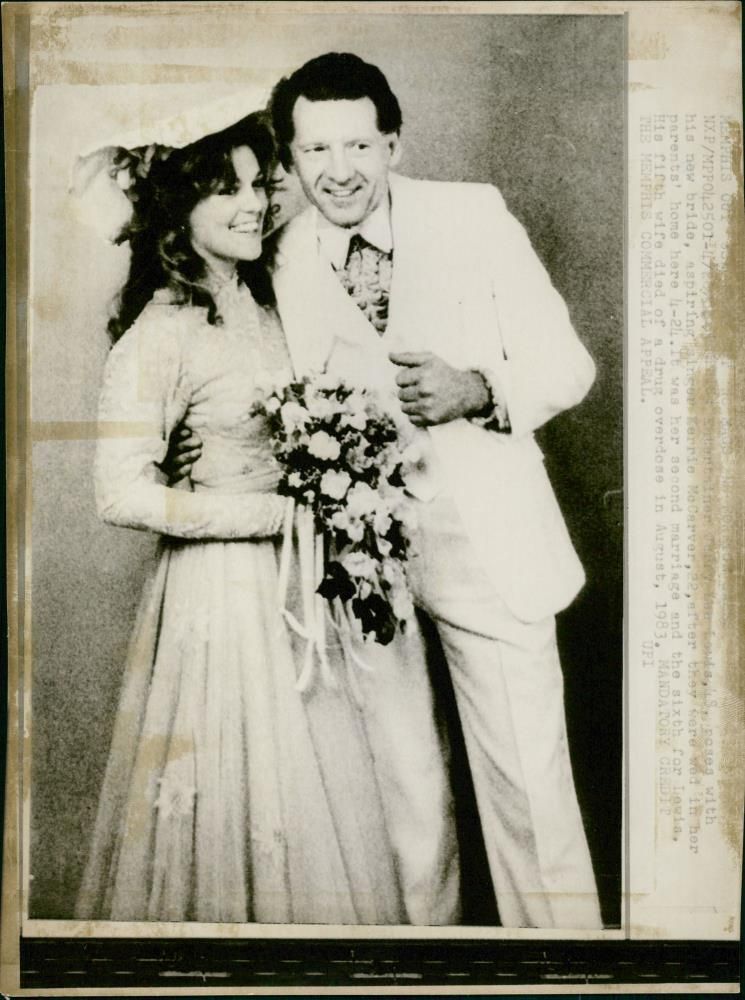
[[[736,983],[738,942],[22,938],[26,989]]]

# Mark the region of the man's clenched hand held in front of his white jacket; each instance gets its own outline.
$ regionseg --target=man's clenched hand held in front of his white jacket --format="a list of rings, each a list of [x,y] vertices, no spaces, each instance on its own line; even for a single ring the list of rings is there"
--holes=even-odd
[[[401,409],[417,427],[472,417],[491,404],[491,393],[478,372],[453,368],[429,351],[388,357],[401,369],[396,376]]]

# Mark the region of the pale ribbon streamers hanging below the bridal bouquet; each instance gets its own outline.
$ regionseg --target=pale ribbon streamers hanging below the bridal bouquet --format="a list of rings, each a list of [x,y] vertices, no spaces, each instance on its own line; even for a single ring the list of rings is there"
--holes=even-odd
[[[297,532],[303,622],[300,622],[287,607],[287,591],[293,553],[293,528]],[[316,675],[316,663],[318,663],[324,684],[331,688],[337,687],[337,681],[326,650],[327,619],[339,635],[347,663],[350,665],[355,663],[361,670],[372,673],[371,667],[352,648],[353,631],[349,621],[349,613],[343,602],[338,598],[334,601],[334,613],[332,614],[327,612],[325,598],[317,593],[324,575],[323,535],[315,530],[313,513],[303,507],[298,507],[291,497],[288,498],[285,507],[282,535],[278,584],[279,611],[292,631],[306,642],[303,667],[295,685],[296,689],[304,692],[311,687]],[[353,684],[353,690],[359,700],[359,690],[356,684]]]

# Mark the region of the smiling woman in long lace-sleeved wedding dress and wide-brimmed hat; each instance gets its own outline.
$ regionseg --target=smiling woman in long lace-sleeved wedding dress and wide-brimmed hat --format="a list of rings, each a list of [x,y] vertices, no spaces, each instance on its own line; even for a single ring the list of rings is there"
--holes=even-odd
[[[129,648],[80,919],[409,919],[343,652],[330,643],[336,688],[298,691],[303,644],[278,606],[286,501],[265,423],[250,413],[259,374],[290,364],[261,256],[273,157],[262,117],[249,115],[156,155],[138,181],[130,271],[110,324],[96,495],[108,523],[161,542]],[[173,488],[159,464],[187,413],[203,448],[191,488]],[[416,630],[396,655],[423,670]],[[412,690],[430,698],[426,685]],[[434,789],[444,768],[431,732]],[[443,880],[455,864],[443,856]]]

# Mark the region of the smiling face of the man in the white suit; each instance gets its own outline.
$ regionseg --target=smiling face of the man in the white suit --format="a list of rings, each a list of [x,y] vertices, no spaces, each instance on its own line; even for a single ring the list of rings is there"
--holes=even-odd
[[[329,222],[358,225],[388,194],[388,172],[400,158],[398,136],[379,130],[369,97],[299,97],[292,121],[292,161],[306,197]]]

